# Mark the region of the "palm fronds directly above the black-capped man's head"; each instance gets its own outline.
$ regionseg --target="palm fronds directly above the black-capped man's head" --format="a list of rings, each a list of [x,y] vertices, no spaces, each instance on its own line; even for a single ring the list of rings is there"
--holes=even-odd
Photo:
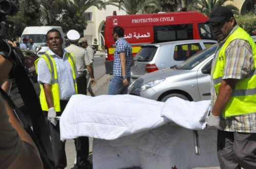
[[[224,5],[227,1],[233,1],[233,0],[197,0],[195,1],[192,6],[190,7],[191,10],[196,10],[201,12],[202,14],[209,16],[212,9],[225,6],[230,8],[234,14],[239,15],[239,9],[231,4]]]

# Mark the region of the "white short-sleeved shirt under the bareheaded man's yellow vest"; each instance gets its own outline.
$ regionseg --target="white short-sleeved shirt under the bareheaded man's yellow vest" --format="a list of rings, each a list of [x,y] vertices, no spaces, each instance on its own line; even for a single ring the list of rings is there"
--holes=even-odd
[[[60,58],[50,49],[49,54],[52,55],[56,65],[58,84],[59,84],[59,98],[60,100],[69,100],[72,95],[75,95],[75,86],[73,80],[73,72],[71,65],[66,57],[66,50],[63,50],[63,58]],[[37,63],[37,81],[42,83],[51,84],[52,76],[44,58],[40,58]],[[77,69],[75,67],[75,74],[78,77]]]

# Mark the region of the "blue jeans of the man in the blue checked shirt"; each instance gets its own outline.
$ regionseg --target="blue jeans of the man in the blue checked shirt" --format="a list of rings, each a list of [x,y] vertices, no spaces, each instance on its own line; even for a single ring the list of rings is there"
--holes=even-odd
[[[131,77],[127,77],[128,82],[131,81]],[[128,93],[128,87],[123,85],[123,79],[119,76],[113,76],[110,80],[109,95],[125,95]]]

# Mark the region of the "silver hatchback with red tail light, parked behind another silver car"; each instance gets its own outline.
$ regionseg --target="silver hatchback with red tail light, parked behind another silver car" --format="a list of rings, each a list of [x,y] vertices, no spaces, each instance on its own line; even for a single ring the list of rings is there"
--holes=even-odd
[[[214,40],[184,40],[142,45],[131,68],[131,81],[156,70],[179,65],[195,53],[217,43]]]

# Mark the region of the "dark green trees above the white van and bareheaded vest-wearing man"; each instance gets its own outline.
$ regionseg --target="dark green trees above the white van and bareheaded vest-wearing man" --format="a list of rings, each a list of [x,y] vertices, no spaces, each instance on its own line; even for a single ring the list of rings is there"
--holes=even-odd
[[[15,16],[7,16],[12,25],[10,34],[19,37],[26,26],[61,26],[63,32],[71,29],[83,34],[87,21],[83,13],[95,6],[98,9],[102,0],[13,0],[19,7]],[[104,8],[105,9],[105,8]],[[13,29],[14,27],[14,29]]]

